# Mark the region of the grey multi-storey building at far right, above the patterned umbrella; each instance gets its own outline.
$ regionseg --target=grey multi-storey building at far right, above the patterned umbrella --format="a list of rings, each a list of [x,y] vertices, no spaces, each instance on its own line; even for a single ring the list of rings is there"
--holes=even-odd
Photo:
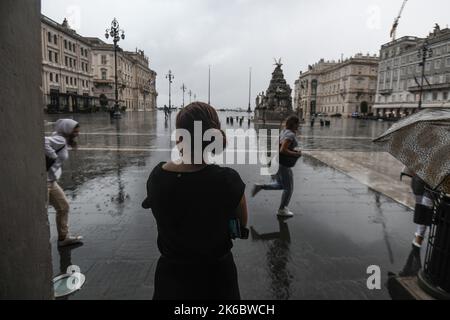
[[[403,37],[381,47],[375,113],[403,117],[418,110],[425,41],[432,55],[425,64],[424,108],[450,107],[450,29],[440,29],[427,38]]]

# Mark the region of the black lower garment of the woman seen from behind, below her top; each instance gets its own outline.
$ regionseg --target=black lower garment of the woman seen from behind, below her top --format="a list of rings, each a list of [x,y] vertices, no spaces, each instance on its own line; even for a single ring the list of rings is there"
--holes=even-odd
[[[158,260],[153,300],[240,300],[233,255],[216,262]]]

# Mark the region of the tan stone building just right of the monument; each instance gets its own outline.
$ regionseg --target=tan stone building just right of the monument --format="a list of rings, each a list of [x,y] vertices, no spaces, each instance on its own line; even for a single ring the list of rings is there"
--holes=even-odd
[[[375,103],[377,56],[357,54],[309,66],[296,82],[295,103],[303,117],[316,113],[370,114]]]

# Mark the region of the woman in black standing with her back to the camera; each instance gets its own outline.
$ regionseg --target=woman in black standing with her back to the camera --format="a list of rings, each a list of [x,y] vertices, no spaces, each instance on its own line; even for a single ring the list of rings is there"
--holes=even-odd
[[[191,141],[195,140],[194,122],[201,122],[202,137],[207,130],[217,130],[226,145],[213,107],[195,102],[178,114],[177,129],[187,130]],[[204,143],[202,149],[206,147]],[[229,225],[233,219],[247,225],[245,184],[233,169],[205,160],[190,164],[194,161],[184,157],[185,150],[180,152],[181,163],[160,163],[154,168],[142,204],[152,210],[158,226],[161,257],[153,299],[239,300]],[[194,159],[192,153],[190,160]]]

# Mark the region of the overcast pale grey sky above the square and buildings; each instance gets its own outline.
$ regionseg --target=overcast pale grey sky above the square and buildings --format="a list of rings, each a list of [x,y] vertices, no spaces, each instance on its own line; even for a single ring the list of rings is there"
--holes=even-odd
[[[173,103],[181,105],[181,85],[211,103],[246,108],[248,72],[253,69],[252,106],[268,87],[273,58],[282,58],[294,87],[300,70],[320,58],[338,60],[358,52],[375,54],[389,42],[389,31],[403,0],[42,0],[42,12],[67,17],[83,36],[104,39],[117,17],[126,32],[121,46],[150,57],[158,73],[158,105],[168,104],[168,70],[175,74]],[[425,36],[435,23],[450,23],[448,0],[409,0],[398,37]],[[186,101],[189,101],[187,98]]]

